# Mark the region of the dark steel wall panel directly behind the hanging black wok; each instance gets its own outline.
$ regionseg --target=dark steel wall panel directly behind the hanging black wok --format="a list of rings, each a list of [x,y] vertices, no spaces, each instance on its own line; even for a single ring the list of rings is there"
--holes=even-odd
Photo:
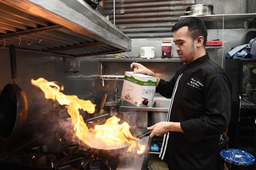
[[[12,83],[10,73],[9,48],[1,49],[0,57],[0,89]],[[35,55],[37,57],[35,57]],[[27,122],[29,124],[50,113],[53,109],[51,101],[47,100],[41,89],[31,84],[31,79],[40,77],[47,81],[55,81],[55,57],[46,54],[35,54],[16,51],[17,79],[16,83],[25,92],[28,102]]]

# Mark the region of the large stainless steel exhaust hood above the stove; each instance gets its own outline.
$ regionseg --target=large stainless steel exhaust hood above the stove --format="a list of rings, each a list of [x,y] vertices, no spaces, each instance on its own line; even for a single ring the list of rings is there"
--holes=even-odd
[[[131,40],[83,0],[0,0],[0,46],[75,57],[131,51]]]

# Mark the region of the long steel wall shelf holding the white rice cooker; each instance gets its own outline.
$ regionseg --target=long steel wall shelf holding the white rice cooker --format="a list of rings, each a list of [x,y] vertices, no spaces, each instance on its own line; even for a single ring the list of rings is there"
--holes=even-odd
[[[178,62],[181,63],[179,58],[175,59],[161,59],[161,58],[152,58],[152,59],[142,59],[142,58],[132,58],[132,59],[114,59],[114,58],[101,58],[101,62]]]

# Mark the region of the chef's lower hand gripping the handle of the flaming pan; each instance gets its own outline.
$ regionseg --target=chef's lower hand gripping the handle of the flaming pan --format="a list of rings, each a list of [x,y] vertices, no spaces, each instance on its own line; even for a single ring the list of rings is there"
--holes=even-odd
[[[159,122],[153,126],[147,127],[148,130],[152,130],[152,133],[149,135],[149,137],[153,136],[161,136],[163,134],[166,134],[168,132],[181,132],[183,133],[183,130],[181,128],[181,124],[179,122]]]

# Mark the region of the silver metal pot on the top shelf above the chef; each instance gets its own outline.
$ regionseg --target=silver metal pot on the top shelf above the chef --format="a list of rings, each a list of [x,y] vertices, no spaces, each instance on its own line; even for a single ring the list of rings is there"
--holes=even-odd
[[[196,4],[187,7],[185,15],[213,15],[213,5],[210,4]]]

